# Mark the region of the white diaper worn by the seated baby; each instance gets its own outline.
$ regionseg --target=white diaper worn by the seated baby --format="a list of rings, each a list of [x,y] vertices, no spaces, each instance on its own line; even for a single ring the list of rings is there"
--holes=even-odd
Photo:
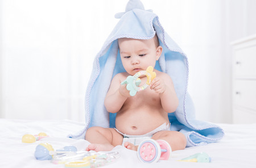
[[[118,133],[120,133],[121,135],[123,135],[122,145],[125,144],[125,142],[131,142],[131,144],[139,145],[139,144],[141,144],[141,142],[143,140],[151,138],[156,132],[159,132],[159,131],[170,131],[170,125],[171,125],[170,123],[169,124],[163,123],[158,128],[156,128],[153,131],[148,132],[148,133],[146,133],[144,135],[127,135],[125,133],[122,133],[122,132],[118,131],[117,128],[115,128],[115,130]]]

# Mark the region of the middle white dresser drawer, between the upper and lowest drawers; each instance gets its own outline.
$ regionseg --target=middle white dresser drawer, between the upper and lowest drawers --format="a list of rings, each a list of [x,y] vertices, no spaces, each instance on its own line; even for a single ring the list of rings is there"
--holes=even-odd
[[[233,103],[256,110],[256,80],[234,80]]]

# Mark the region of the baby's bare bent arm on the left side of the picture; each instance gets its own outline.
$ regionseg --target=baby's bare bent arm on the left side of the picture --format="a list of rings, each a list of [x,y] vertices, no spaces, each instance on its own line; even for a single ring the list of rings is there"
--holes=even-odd
[[[112,82],[109,87],[109,91],[106,94],[106,98],[104,101],[106,110],[108,112],[118,112],[125,100],[129,95],[129,91],[126,89],[126,85],[120,85],[121,83],[121,74],[117,74],[112,79]]]

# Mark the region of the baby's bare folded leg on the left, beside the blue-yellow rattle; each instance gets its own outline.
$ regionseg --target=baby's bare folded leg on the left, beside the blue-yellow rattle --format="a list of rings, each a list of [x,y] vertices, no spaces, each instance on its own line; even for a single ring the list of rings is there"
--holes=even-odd
[[[122,144],[123,136],[114,128],[91,127],[86,131],[85,140],[92,143],[86,148],[88,151],[109,151]]]

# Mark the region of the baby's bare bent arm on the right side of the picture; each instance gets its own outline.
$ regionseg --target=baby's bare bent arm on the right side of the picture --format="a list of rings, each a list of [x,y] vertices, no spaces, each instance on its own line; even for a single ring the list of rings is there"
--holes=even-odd
[[[150,83],[150,89],[159,93],[160,100],[164,111],[174,112],[179,105],[179,99],[175,93],[174,83],[168,74],[156,77]]]

